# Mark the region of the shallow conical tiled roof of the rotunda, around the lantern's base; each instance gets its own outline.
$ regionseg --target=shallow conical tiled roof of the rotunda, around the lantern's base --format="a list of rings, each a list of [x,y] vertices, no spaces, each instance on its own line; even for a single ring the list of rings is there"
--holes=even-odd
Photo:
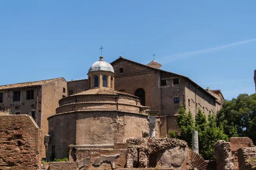
[[[124,95],[127,95],[127,96],[137,97],[137,96],[134,96],[134,95],[131,95],[131,94],[123,93],[121,91],[113,90],[111,88],[94,88],[94,89],[90,89],[90,90],[87,90],[87,91],[82,91],[80,93],[73,94],[73,95],[70,95],[70,96],[94,95],[94,94],[108,94],[108,95],[124,94]],[[69,96],[67,96],[67,97],[69,97]]]

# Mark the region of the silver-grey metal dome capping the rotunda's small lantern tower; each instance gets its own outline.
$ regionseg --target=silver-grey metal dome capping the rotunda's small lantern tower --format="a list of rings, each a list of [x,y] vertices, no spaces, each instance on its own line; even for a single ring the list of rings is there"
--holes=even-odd
[[[108,62],[103,61],[103,57],[100,56],[99,57],[99,61],[94,62],[93,65],[90,66],[89,71],[111,71],[112,73],[115,73],[113,67],[111,64],[109,64]]]

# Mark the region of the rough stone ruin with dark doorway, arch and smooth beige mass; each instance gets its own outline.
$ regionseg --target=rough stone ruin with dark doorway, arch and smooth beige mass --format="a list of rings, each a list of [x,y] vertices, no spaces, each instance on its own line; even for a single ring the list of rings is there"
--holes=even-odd
[[[181,167],[187,156],[187,144],[179,139],[127,139],[127,144],[126,167],[128,168],[147,168],[150,156],[157,156],[156,159],[151,159],[156,161],[151,164],[156,164],[157,167],[177,168]]]

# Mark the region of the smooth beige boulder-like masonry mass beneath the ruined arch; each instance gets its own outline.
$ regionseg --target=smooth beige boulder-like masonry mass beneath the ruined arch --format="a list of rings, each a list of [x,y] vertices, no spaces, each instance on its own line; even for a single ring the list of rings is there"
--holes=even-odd
[[[157,167],[180,167],[187,156],[186,147],[174,147],[164,150],[157,156]]]

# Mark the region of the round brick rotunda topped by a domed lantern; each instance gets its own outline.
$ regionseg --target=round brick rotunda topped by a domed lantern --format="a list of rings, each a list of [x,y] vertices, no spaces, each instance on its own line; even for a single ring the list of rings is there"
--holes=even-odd
[[[99,62],[89,69],[89,90],[60,99],[56,114],[48,118],[48,161],[67,157],[70,144],[76,149],[113,148],[149,132],[149,107],[137,96],[115,91],[113,67],[102,56]]]

